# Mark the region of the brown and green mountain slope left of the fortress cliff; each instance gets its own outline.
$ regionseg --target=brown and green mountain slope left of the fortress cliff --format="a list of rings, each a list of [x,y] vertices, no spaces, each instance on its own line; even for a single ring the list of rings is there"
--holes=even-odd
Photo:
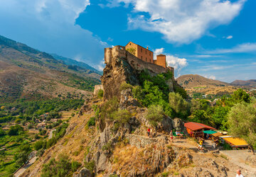
[[[54,56],[57,59],[0,35],[0,103],[18,98],[81,98],[90,96],[95,84],[100,84],[100,72],[96,69]]]

